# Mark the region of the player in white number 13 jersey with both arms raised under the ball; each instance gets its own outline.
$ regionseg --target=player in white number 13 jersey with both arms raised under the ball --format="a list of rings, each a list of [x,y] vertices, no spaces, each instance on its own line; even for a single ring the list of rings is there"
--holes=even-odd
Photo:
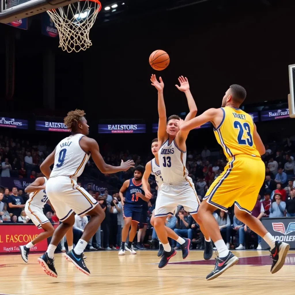
[[[198,218],[199,198],[194,188],[192,179],[188,177],[186,170],[186,138],[189,132],[181,132],[180,125],[183,120],[177,115],[172,115],[166,118],[166,109],[163,97],[164,83],[160,77],[158,82],[155,75],[151,76],[152,85],[158,90],[158,151],[159,165],[163,184],[158,193],[155,207],[155,230],[159,240],[163,244],[164,253],[159,263],[159,268],[167,265],[169,259],[176,254],[174,249],[168,242],[167,231],[165,230],[165,221],[168,214],[173,214],[176,206],[182,205],[184,210],[189,212],[195,221],[199,224],[200,229],[205,237],[204,259],[210,259],[213,254],[212,243],[209,235]],[[185,121],[188,121],[196,116],[197,107],[193,96],[189,90],[189,82],[183,76],[178,78],[180,86],[176,85],[177,89],[186,94],[189,105],[189,114]],[[167,122],[168,121],[168,122]],[[189,251],[190,240],[183,239],[182,248]]]

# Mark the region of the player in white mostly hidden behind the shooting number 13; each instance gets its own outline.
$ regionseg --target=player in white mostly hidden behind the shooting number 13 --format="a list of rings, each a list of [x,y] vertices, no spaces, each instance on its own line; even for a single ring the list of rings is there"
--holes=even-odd
[[[150,174],[155,176],[155,180],[157,182],[158,185],[158,194],[159,191],[161,190],[161,186],[163,183],[163,178],[161,175],[161,170],[160,170],[160,165],[159,165],[159,156],[158,156],[158,151],[159,151],[159,143],[158,143],[158,138],[153,139],[152,141],[152,153],[155,156],[155,158],[153,158],[153,160],[149,161],[146,165],[145,165],[145,173],[143,174],[142,177],[142,188],[143,190],[147,191],[148,193],[148,198],[150,199],[152,197],[152,194],[150,193],[150,191],[148,190],[148,178],[150,176]],[[157,204],[157,201],[156,201]],[[175,208],[176,209],[176,208]],[[152,213],[152,217],[150,219],[150,223],[152,224],[152,226],[154,227],[154,220],[155,220],[155,210],[153,210]],[[176,232],[174,232],[174,230],[172,230],[169,227],[165,226],[165,230],[167,232],[168,237],[170,237],[173,240],[176,240],[177,242],[180,242],[181,245],[185,245],[185,240],[182,237],[179,237]],[[158,251],[158,257],[163,255],[163,244],[161,242],[159,242],[159,251]],[[185,259],[187,257],[187,255],[189,254],[189,251],[185,248],[185,247],[181,247],[182,250],[182,258]]]

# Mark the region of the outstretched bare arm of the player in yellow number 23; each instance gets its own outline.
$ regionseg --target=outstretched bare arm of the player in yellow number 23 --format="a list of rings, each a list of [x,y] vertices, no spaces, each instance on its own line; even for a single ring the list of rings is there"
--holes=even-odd
[[[199,127],[207,122],[212,122],[214,127],[217,127],[223,118],[221,109],[209,109],[200,116],[197,116],[188,122],[183,122],[180,126],[181,132],[189,132],[190,130]],[[219,123],[218,123],[219,122]]]

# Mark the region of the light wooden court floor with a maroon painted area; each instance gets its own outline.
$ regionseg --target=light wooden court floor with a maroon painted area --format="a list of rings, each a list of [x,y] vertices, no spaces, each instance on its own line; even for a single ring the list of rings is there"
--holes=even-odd
[[[19,255],[0,256],[1,294],[17,295],[142,295],[142,294],[294,294],[295,251],[276,274],[270,273],[268,251],[236,251],[240,261],[222,276],[206,281],[215,260],[204,261],[203,251],[191,251],[186,260],[181,252],[159,269],[156,251],[137,251],[118,256],[117,251],[85,252],[91,276],[78,271],[62,254],[55,257],[58,278],[47,276],[37,263],[40,254],[30,254],[29,262]],[[213,255],[215,257],[215,255]],[[0,294],[0,295],[1,295]]]

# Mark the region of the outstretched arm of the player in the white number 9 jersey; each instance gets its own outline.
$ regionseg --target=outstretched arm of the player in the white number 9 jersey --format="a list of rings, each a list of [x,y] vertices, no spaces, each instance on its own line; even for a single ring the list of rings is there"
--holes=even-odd
[[[87,148],[85,147],[87,146]],[[127,171],[128,169],[134,167],[133,160],[128,160],[126,162],[121,162],[120,166],[112,166],[106,164],[99,152],[99,146],[96,140],[83,136],[80,140],[80,146],[85,151],[88,150],[91,153],[92,159],[94,160],[95,165],[102,173],[117,173],[119,171]]]

